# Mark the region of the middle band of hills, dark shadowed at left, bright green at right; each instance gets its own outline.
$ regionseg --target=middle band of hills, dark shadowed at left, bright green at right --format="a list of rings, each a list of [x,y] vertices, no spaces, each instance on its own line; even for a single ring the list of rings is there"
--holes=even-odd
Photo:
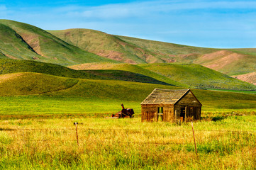
[[[256,90],[253,84],[228,77],[198,64],[113,64],[87,63],[72,66],[30,60],[0,60],[0,74],[33,72],[57,77],[136,81],[183,88]],[[75,70],[82,69],[82,70]]]

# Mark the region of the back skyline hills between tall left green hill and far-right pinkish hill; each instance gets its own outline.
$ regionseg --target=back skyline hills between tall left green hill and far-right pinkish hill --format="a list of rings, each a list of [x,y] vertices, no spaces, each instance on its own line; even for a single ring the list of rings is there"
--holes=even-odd
[[[130,64],[192,62],[214,49],[109,35],[97,30],[48,30],[52,35],[97,55]]]

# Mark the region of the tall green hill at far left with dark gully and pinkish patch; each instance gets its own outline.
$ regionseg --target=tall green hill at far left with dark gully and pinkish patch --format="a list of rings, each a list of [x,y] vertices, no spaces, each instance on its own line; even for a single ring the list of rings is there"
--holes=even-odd
[[[69,45],[45,30],[26,23],[0,20],[0,36],[1,53],[13,59],[38,60],[62,65],[115,62]]]

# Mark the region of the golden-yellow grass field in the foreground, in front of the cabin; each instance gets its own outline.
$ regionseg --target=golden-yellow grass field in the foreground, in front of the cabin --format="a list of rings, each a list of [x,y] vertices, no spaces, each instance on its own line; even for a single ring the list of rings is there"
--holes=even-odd
[[[1,169],[255,169],[256,116],[194,123],[140,118],[0,120]],[[74,122],[78,122],[77,145]]]

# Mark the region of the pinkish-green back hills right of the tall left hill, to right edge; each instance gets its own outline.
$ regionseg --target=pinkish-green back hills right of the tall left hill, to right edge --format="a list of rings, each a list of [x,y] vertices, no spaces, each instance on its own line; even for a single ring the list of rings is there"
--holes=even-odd
[[[228,75],[255,72],[256,50],[212,49],[109,35],[97,30],[49,30],[58,38],[97,55],[130,64],[201,64]]]

